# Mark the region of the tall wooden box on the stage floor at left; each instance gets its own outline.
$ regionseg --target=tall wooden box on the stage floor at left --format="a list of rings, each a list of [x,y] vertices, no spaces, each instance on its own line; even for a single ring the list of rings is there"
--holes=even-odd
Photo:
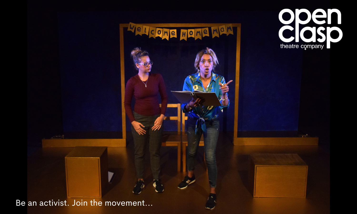
[[[108,183],[107,147],[75,147],[65,157],[67,198],[101,198]]]

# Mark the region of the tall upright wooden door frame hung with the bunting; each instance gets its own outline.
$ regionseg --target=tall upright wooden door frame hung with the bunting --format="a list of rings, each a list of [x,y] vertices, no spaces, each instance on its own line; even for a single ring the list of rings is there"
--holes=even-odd
[[[216,27],[231,23],[186,23],[186,24],[140,24],[149,27]],[[121,73],[121,113],[122,113],[122,130],[123,139],[126,139],[126,118],[124,108],[125,95],[125,68],[124,68],[124,27],[129,27],[129,24],[120,24],[120,73]],[[240,66],[240,51],[241,51],[241,24],[232,23],[232,27],[237,27],[237,52],[236,52],[236,79],[235,79],[235,106],[234,106],[234,136],[237,138],[238,133],[238,92],[239,92],[239,66]],[[233,34],[234,35],[234,34]]]

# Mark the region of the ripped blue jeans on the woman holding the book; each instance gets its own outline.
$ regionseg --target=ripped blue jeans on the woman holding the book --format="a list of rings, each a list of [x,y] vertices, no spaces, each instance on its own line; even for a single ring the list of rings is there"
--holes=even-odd
[[[210,182],[210,187],[215,188],[217,185],[216,146],[218,141],[218,133],[220,132],[220,121],[218,118],[212,121],[205,121],[207,132],[202,131],[201,123],[198,122],[198,130],[197,134],[195,134],[196,122],[197,118],[187,118],[187,170],[193,171],[195,169],[195,159],[198,151],[198,144],[200,143],[200,139],[203,133],[208,179]]]

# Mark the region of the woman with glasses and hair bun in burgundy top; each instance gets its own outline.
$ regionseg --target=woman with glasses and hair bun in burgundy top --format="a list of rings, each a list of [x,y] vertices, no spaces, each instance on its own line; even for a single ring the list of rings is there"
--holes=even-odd
[[[164,192],[164,185],[159,180],[160,147],[162,121],[167,107],[167,95],[164,79],[158,73],[150,73],[152,61],[146,51],[135,48],[131,51],[137,75],[126,83],[124,106],[131,122],[131,132],[135,147],[135,168],[137,182],[133,193],[140,194],[144,185],[144,159],[146,142],[149,142],[151,171],[154,176],[156,192]],[[161,109],[158,94],[161,96]],[[131,109],[132,97],[135,98],[134,112]]]

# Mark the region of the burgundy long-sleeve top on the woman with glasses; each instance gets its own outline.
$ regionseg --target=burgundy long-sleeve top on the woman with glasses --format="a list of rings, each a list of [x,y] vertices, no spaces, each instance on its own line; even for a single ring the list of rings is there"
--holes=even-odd
[[[167,94],[164,79],[159,73],[149,73],[146,87],[140,80],[139,75],[131,77],[126,83],[124,107],[125,113],[130,122],[135,121],[131,110],[131,100],[134,96],[134,111],[145,116],[154,116],[156,114],[165,114],[167,108]],[[158,94],[161,96],[161,109],[159,106]]]

